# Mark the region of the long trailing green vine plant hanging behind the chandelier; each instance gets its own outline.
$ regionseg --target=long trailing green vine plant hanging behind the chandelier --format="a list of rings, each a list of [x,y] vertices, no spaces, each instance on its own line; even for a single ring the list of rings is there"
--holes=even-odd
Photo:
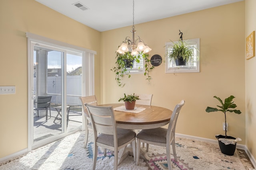
[[[128,78],[130,78],[131,74],[130,71],[132,70],[132,66],[134,62],[140,63],[140,59],[144,59],[144,76],[148,76],[146,80],[150,82],[152,79],[151,76],[149,76],[149,72],[151,72],[154,69],[154,66],[150,63],[149,55],[140,53],[139,55],[131,55],[130,52],[126,52],[124,54],[120,54],[116,52],[116,66],[114,66],[111,70],[115,72],[116,77],[115,80],[120,87],[124,87],[125,84],[122,83],[122,78],[127,75]],[[140,69],[140,67],[138,68]]]

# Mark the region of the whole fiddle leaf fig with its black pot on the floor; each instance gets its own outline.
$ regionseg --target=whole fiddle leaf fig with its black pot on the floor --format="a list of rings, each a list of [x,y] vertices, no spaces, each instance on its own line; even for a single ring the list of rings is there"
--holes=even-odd
[[[241,114],[241,111],[234,109],[234,108],[236,108],[236,104],[234,104],[234,102],[232,102],[232,100],[235,98],[234,96],[230,96],[230,97],[226,98],[224,103],[217,96],[214,96],[214,98],[216,98],[220,102],[221,106],[217,105],[219,107],[219,109],[208,106],[206,108],[206,112],[210,113],[210,112],[214,112],[214,111],[221,111],[222,113],[224,113],[224,115],[225,115],[225,136],[224,135],[216,135],[216,138],[218,139],[221,152],[223,154],[232,156],[232,155],[234,155],[234,152],[236,150],[236,143],[238,141],[241,141],[241,139],[234,138],[232,136],[227,136],[226,112],[234,112],[236,114]]]

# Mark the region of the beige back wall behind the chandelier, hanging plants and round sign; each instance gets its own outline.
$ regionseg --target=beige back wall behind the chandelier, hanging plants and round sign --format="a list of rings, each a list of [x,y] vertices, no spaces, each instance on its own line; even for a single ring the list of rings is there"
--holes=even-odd
[[[245,144],[244,2],[135,25],[136,35],[152,48],[150,56],[164,57],[165,43],[177,41],[179,29],[183,39],[200,38],[200,73],[167,74],[163,63],[151,72],[150,82],[143,74],[132,74],[120,88],[110,69],[118,45],[132,35],[131,29],[102,32],[102,103],[117,103],[123,93],[146,93],[153,94],[152,105],[173,109],[184,99],[176,133],[215,139],[216,134],[224,134],[224,114],[205,109],[216,107],[215,95],[222,99],[234,95],[242,114],[227,113],[227,134]]]

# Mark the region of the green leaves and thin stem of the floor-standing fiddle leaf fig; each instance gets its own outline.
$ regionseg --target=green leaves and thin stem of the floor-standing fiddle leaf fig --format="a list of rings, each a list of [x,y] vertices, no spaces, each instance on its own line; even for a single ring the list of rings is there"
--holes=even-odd
[[[232,100],[235,98],[234,96],[230,96],[230,97],[226,98],[224,103],[217,96],[214,96],[214,98],[216,98],[220,102],[221,106],[217,105],[219,108],[208,106],[205,111],[208,113],[214,112],[214,111],[221,111],[222,113],[224,113],[224,115],[225,115],[225,138],[227,138],[226,112],[234,112],[236,114],[241,114],[241,111],[234,109],[234,108],[236,108],[236,104],[234,104],[234,102],[232,102]]]

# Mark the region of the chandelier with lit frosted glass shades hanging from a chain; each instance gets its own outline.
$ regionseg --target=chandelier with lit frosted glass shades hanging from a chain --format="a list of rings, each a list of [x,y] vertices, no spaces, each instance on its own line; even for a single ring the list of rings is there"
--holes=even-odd
[[[139,36],[134,36],[134,33],[136,33],[135,27],[134,27],[134,0],[133,0],[133,25],[132,25],[132,38],[126,37],[123,41],[122,45],[118,48],[116,52],[120,54],[124,54],[125,52],[130,52],[131,55],[138,55],[139,51],[142,53],[148,53],[152,49],[148,47],[144,43],[144,41]],[[135,37],[135,38],[134,38]],[[138,45],[137,45],[138,42]]]

